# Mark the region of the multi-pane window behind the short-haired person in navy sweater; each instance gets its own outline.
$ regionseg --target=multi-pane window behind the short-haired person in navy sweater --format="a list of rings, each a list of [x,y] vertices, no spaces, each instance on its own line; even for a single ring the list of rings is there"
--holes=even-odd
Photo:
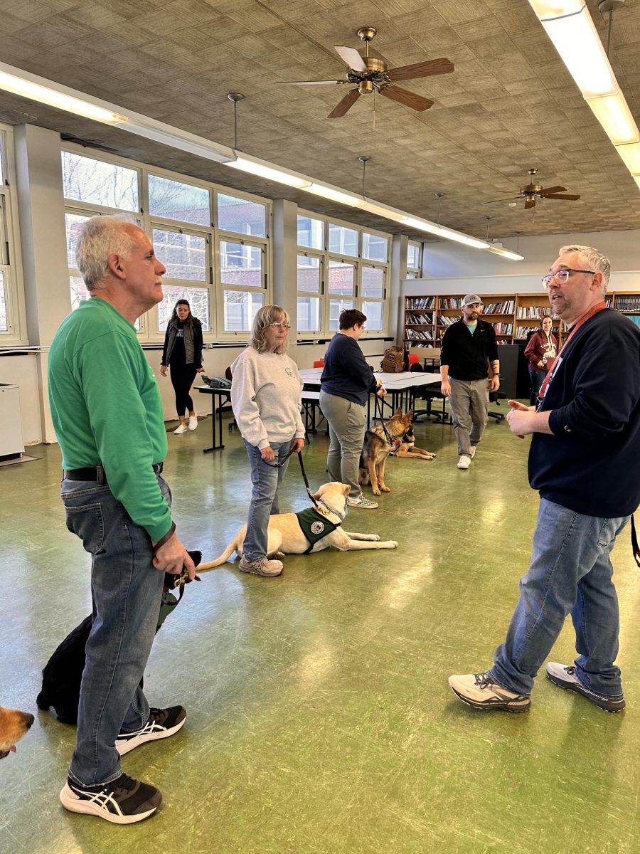
[[[323,243],[328,237],[329,246]],[[367,315],[365,329],[386,330],[391,237],[348,223],[298,215],[298,335],[329,335],[346,308]]]

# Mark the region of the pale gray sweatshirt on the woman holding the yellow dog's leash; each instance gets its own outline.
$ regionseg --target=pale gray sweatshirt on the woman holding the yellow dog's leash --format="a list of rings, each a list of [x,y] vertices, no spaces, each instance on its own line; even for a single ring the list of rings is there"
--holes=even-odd
[[[247,347],[231,366],[231,408],[242,438],[260,450],[271,442],[303,439],[302,380],[285,354]]]

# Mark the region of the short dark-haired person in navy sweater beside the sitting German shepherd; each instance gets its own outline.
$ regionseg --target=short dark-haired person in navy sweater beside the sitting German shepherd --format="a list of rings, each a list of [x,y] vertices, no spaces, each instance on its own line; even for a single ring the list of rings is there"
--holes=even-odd
[[[369,393],[383,389],[358,346],[365,315],[355,308],[340,313],[340,331],[329,342],[320,378],[320,408],[329,424],[327,471],[332,480],[351,487],[349,506],[375,510],[377,502],[365,498],[358,483],[360,453],[366,430],[364,407]]]

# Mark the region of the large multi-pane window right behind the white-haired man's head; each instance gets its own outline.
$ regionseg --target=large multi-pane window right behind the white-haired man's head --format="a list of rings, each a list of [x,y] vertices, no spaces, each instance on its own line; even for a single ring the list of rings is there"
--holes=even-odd
[[[255,313],[268,301],[270,205],[205,181],[76,148],[70,145],[61,155],[73,307],[89,296],[75,260],[79,225],[96,214],[128,213],[166,266],[164,298],[137,324],[141,339],[162,340],[178,299],[189,301],[207,341],[238,334],[246,339]],[[314,275],[311,264],[309,272]],[[322,284],[317,270],[315,275],[318,294]]]

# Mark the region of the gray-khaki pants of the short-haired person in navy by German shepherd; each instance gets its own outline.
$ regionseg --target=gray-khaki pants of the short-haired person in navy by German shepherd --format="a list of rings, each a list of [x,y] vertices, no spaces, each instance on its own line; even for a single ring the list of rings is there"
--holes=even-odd
[[[339,483],[348,483],[351,487],[349,498],[358,498],[362,494],[362,487],[358,483],[360,453],[367,426],[364,407],[346,401],[344,397],[321,391],[320,409],[329,424],[329,477]]]

